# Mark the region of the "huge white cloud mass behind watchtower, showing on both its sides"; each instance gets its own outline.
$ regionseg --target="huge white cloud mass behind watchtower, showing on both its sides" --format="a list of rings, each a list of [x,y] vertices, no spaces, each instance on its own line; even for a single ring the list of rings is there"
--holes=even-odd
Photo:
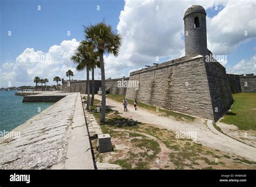
[[[205,9],[214,9],[217,5],[220,9],[218,15],[207,17],[208,48],[213,54],[231,53],[240,44],[256,37],[254,1],[126,0],[117,25],[123,45],[117,57],[106,57],[106,75],[119,77],[123,69],[128,71],[152,64],[157,56],[160,59],[184,56],[183,17],[186,9],[194,4]]]

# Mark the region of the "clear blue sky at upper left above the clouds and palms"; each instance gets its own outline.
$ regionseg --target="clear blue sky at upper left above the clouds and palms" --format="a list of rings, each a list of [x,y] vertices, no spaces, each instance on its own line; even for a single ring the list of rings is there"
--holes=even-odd
[[[41,6],[41,11],[37,6]],[[97,5],[100,11],[97,11]],[[15,61],[25,48],[48,51],[63,40],[83,39],[83,25],[105,19],[114,29],[123,1],[1,0],[1,61]],[[12,36],[8,36],[11,31]],[[70,31],[70,36],[67,32]]]

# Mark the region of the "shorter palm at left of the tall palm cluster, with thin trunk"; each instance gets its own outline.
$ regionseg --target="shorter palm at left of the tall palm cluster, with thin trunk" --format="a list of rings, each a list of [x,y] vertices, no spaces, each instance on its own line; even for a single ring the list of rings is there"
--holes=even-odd
[[[82,71],[86,68],[86,85],[87,85],[87,104],[86,109],[90,108],[90,68],[91,62],[93,60],[93,49],[95,47],[86,41],[80,42],[80,45],[77,47],[77,50],[73,56],[71,56],[71,60],[78,64],[76,69],[78,71]]]

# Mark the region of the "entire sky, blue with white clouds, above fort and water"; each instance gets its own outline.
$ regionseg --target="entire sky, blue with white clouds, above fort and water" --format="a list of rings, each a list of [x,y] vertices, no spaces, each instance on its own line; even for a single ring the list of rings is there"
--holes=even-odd
[[[185,55],[184,12],[205,8],[207,48],[232,74],[256,74],[255,1],[0,0],[0,87],[34,85],[33,78],[85,80],[70,60],[83,26],[103,19],[123,37],[119,55],[106,54],[106,78]],[[95,78],[99,78],[99,69]]]

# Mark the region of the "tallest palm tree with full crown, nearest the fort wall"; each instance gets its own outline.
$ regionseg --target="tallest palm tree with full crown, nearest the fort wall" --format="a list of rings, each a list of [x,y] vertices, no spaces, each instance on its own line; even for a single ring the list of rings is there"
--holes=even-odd
[[[100,112],[100,122],[105,122],[106,113],[106,88],[105,88],[105,69],[103,54],[109,53],[117,56],[122,44],[120,34],[114,33],[111,25],[104,21],[96,25],[90,25],[84,28],[85,39],[92,42],[99,52],[100,71],[102,75],[102,111]]]

